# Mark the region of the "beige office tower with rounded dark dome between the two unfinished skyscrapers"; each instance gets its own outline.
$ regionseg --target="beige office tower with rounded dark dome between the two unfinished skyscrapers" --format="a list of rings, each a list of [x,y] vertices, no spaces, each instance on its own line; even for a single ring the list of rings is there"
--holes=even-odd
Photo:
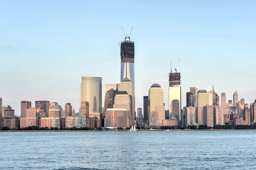
[[[149,125],[161,126],[165,120],[163,88],[158,84],[151,85],[148,90]]]

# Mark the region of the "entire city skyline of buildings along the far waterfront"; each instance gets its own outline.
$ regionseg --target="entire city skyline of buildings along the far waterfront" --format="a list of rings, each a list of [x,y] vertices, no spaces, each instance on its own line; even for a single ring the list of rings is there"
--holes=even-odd
[[[128,40],[126,40],[128,39]],[[20,102],[20,116],[9,105],[3,106],[0,98],[0,127],[160,127],[207,125],[252,125],[256,122],[256,100],[247,104],[239,101],[237,91],[233,100],[226,100],[226,93],[219,98],[211,91],[191,87],[186,93],[186,107],[181,107],[181,74],[169,73],[169,102],[164,103],[164,91],[159,84],[148,89],[143,96],[143,108],[135,111],[134,42],[130,37],[120,45],[120,82],[106,83],[102,96],[102,77],[81,77],[80,108],[75,112],[71,103],[64,110],[57,102]],[[102,98],[103,97],[103,98]],[[102,100],[104,105],[102,107]],[[165,110],[168,108],[169,110]]]

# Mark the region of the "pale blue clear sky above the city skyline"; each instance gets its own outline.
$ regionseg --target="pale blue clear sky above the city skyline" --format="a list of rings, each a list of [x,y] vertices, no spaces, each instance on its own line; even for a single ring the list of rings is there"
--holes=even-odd
[[[182,107],[193,86],[251,103],[255,21],[254,0],[0,1],[0,97],[15,115],[22,100],[70,102],[78,112],[82,76],[102,77],[102,93],[120,82],[121,26],[134,26],[136,108],[157,83],[168,109],[170,62],[174,70],[179,59]]]

